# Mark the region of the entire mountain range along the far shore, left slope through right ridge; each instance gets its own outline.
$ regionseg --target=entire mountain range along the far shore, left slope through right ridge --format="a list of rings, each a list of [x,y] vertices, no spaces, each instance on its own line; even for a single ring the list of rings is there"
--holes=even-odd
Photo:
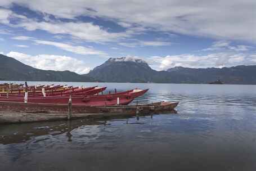
[[[0,80],[56,82],[133,82],[133,83],[209,83],[220,79],[225,84],[256,84],[256,65],[231,68],[183,68],[156,71],[146,61],[133,57],[110,58],[88,74],[40,70],[11,57],[0,55]]]

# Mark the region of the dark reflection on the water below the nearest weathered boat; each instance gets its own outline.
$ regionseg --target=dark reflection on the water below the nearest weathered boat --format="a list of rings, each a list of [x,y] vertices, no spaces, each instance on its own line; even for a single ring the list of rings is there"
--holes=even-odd
[[[10,143],[21,143],[32,140],[30,143],[38,143],[46,141],[51,136],[66,133],[68,141],[71,141],[71,131],[83,125],[96,127],[105,124],[104,121],[95,121],[87,119],[56,121],[56,122],[40,122],[26,124],[5,124],[0,125],[0,144],[7,145]],[[97,132],[96,132],[97,133]],[[47,136],[51,135],[51,136]],[[83,140],[84,141],[84,140]]]

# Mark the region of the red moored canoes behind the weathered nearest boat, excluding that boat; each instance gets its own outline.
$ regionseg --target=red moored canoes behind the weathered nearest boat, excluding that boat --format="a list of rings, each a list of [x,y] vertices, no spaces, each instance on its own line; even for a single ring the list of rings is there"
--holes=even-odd
[[[36,92],[12,92],[0,93],[0,101],[25,102],[37,104],[68,104],[71,99],[73,105],[84,106],[110,106],[128,105],[148,91],[148,89],[132,89],[124,92],[115,92],[99,95],[106,87],[69,87],[55,86],[55,89],[45,89]]]

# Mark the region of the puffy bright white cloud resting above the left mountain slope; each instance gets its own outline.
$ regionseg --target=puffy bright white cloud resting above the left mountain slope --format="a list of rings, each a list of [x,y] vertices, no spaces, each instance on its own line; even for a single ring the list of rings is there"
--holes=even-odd
[[[9,52],[7,56],[23,62],[26,65],[43,70],[74,71],[78,74],[86,74],[91,68],[81,60],[69,56],[59,55],[28,55],[19,52]]]

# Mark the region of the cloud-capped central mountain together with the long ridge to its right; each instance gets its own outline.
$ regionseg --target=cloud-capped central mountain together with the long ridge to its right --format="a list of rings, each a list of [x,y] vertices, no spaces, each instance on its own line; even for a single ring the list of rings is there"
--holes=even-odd
[[[134,83],[210,83],[221,80],[224,84],[256,84],[256,66],[234,66],[231,68],[183,68],[181,66],[156,71],[143,60],[132,57],[110,58],[88,74],[103,82]]]

